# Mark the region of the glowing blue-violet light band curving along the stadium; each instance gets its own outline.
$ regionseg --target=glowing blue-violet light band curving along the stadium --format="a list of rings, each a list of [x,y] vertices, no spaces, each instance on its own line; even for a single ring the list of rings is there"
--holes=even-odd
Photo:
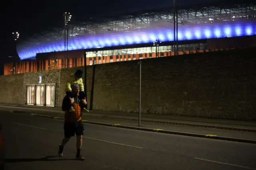
[[[169,29],[170,28],[170,29]],[[156,39],[165,42],[173,41],[173,30],[169,28],[144,29],[140,32],[112,32],[110,34],[97,36],[75,36],[69,39],[69,50],[90,49],[96,47],[109,47],[117,45],[150,43]],[[225,38],[236,36],[251,36],[256,34],[256,20],[226,21],[210,24],[184,25],[178,30],[178,39],[195,40],[205,38]],[[43,45],[34,45],[18,48],[18,55],[21,59],[35,57],[36,53],[46,53],[52,51],[64,51],[64,41],[58,40],[46,42]]]

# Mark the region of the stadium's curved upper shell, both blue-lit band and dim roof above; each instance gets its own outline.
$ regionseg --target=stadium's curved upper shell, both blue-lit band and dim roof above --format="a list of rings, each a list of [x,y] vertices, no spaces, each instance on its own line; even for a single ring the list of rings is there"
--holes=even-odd
[[[156,40],[172,42],[173,23],[168,21],[173,21],[170,8],[102,19],[97,22],[73,23],[69,25],[68,50],[100,50],[102,47],[151,43]],[[256,3],[180,8],[178,23],[181,23],[178,26],[179,41],[252,36],[256,34]],[[168,51],[171,49],[166,47]],[[17,45],[17,51],[20,59],[36,57],[37,53],[64,51],[64,28],[22,40]],[[120,50],[118,55],[120,52],[122,53]],[[141,53],[143,52],[145,51]],[[137,53],[140,52],[137,50]],[[95,55],[91,53],[87,57]]]

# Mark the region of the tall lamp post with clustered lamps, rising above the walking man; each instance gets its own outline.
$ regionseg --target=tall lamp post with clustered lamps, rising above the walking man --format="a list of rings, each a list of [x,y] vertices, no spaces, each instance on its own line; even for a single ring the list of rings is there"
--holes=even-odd
[[[70,15],[70,12],[64,12],[63,16],[64,16],[64,51],[65,51],[64,67],[66,68],[66,59],[68,59],[68,56],[66,53],[66,51],[68,51],[68,24],[71,20],[72,15]]]

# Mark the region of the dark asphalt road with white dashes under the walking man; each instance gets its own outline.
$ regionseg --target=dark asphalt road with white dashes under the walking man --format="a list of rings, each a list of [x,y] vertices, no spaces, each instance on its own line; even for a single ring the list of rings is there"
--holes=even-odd
[[[81,154],[75,138],[57,157],[63,121],[0,112],[6,170],[256,170],[256,144],[85,124]]]

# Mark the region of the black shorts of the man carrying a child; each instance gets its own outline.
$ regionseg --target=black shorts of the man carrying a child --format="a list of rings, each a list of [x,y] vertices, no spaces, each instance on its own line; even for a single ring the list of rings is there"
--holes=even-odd
[[[64,136],[70,138],[71,136],[84,135],[84,124],[82,121],[78,122],[64,122]]]

